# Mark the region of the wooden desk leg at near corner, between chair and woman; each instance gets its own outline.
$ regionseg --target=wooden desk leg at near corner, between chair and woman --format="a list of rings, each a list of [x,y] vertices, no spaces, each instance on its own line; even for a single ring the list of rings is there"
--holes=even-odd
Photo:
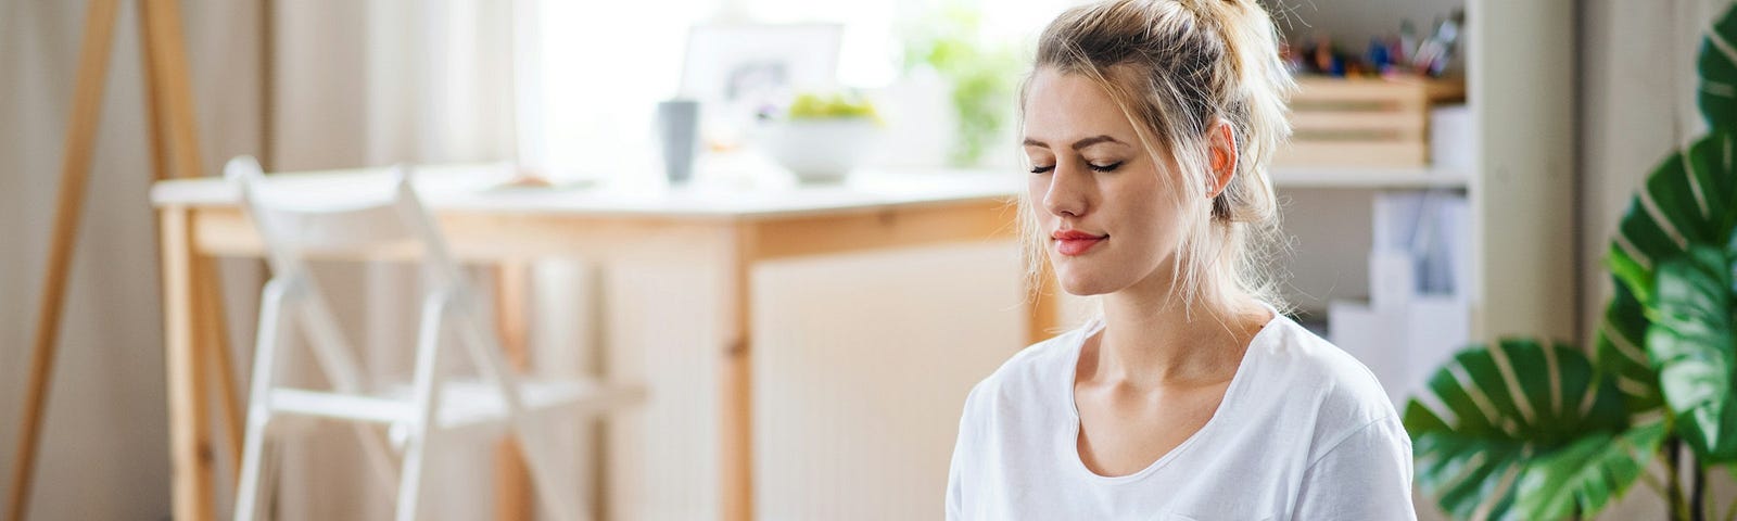
[[[726,521],[754,519],[754,386],[752,386],[752,267],[756,229],[750,222],[735,224],[728,233],[728,254],[721,259],[724,269],[724,353],[719,361],[719,455],[723,471],[723,518]]]

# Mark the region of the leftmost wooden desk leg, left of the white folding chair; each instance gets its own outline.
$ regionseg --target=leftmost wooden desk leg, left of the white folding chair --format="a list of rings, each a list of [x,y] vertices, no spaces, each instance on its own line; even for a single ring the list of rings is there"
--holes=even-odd
[[[193,302],[193,233],[189,212],[160,210],[163,255],[163,346],[168,365],[168,431],[174,458],[175,519],[212,518],[212,441],[205,425],[205,368],[195,333],[201,330]]]

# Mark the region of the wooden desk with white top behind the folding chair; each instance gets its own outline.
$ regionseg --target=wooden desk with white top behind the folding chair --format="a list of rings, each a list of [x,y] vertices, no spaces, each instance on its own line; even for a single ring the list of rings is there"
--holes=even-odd
[[[723,368],[721,455],[724,519],[752,519],[749,276],[761,260],[1009,240],[1009,205],[1021,177],[1009,172],[863,172],[844,186],[490,189],[505,165],[422,168],[419,191],[453,254],[469,262],[535,257],[610,259],[620,245],[712,245],[700,262],[731,273],[716,344]],[[365,170],[297,174],[332,182]],[[281,179],[281,177],[280,177]],[[205,363],[195,349],[214,326],[193,307],[193,264],[203,257],[259,257],[259,238],[222,179],[163,181],[151,188],[162,233],[163,332],[174,457],[175,519],[212,519],[214,445],[207,436]],[[1056,304],[1040,292],[1030,339],[1047,337]],[[507,321],[512,321],[511,318]]]

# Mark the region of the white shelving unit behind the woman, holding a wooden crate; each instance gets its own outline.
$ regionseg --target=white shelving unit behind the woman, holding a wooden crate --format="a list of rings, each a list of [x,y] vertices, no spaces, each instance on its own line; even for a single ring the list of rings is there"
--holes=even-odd
[[[1287,165],[1273,182],[1285,208],[1285,228],[1298,234],[1299,254],[1287,266],[1310,302],[1367,297],[1370,198],[1383,191],[1456,189],[1471,207],[1475,252],[1471,339],[1527,333],[1574,339],[1574,21],[1569,0],[1464,0],[1466,101],[1476,155],[1470,168]],[[1315,30],[1358,36],[1358,21],[1381,24],[1433,9],[1419,2],[1348,0],[1320,5]],[[1370,16],[1379,12],[1383,16]],[[1365,23],[1372,24],[1372,23]],[[1362,208],[1358,208],[1362,205]],[[1310,278],[1301,281],[1301,278]],[[1322,318],[1322,316],[1313,316]]]

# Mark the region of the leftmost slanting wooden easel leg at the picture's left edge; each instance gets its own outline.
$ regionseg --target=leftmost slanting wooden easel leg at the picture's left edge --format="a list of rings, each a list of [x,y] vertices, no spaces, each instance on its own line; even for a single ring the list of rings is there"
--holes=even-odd
[[[24,398],[23,432],[17,464],[12,467],[12,497],[7,518],[24,519],[36,465],[36,438],[42,434],[42,408],[47,403],[49,377],[54,375],[54,347],[59,342],[61,309],[66,304],[66,278],[73,267],[73,245],[83,210],[85,181],[96,151],[97,122],[102,111],[102,83],[108,76],[109,47],[115,40],[115,0],[92,0],[85,12],[85,40],[78,52],[78,83],[73,90],[73,118],[66,129],[66,156],[61,158],[61,193],[56,201],[54,240],[49,245],[49,274],[43,278],[36,307],[36,344],[30,363],[30,387]]]

